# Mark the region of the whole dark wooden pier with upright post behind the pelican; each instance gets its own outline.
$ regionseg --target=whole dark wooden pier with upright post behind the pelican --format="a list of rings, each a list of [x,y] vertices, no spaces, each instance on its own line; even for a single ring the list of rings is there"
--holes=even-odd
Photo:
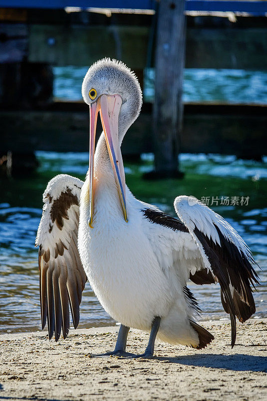
[[[157,5],[79,0],[74,10],[71,1],[0,0],[0,158],[8,151],[23,160],[29,151],[88,149],[86,106],[54,102],[51,67],[90,66],[102,57],[124,61],[141,85],[144,69],[156,67],[154,111],[143,106],[123,145],[127,155],[154,151],[157,173],[169,175],[179,151],[260,158],[266,107],[187,104],[183,118],[181,83],[183,64],[266,70],[267,2],[161,0],[160,14]],[[122,8],[128,11],[118,13]],[[139,10],[130,14],[133,8]]]

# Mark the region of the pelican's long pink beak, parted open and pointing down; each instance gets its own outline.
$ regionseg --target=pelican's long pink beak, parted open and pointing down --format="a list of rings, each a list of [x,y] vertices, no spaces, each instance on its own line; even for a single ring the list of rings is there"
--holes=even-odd
[[[90,105],[90,150],[89,150],[89,226],[93,228],[94,216],[94,155],[97,115],[100,111],[101,122],[105,134],[109,158],[112,165],[115,181],[118,188],[119,199],[123,217],[127,222],[127,208],[125,199],[125,175],[121,149],[119,144],[118,121],[122,105],[120,95],[102,95],[97,102]]]

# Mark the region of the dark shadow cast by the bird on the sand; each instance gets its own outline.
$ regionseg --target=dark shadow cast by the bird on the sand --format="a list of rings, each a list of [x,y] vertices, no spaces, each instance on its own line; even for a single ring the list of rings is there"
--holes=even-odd
[[[202,366],[211,367],[215,369],[227,369],[235,371],[253,371],[253,372],[266,372],[267,371],[267,357],[254,356],[245,354],[231,354],[231,355],[218,355],[218,354],[194,354],[183,355],[177,357],[163,357],[158,356],[155,359],[166,361],[169,363],[179,363],[187,366]]]

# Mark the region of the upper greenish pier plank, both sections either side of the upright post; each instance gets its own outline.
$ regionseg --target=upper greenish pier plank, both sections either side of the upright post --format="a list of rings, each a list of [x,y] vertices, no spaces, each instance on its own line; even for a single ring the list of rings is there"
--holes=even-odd
[[[267,69],[266,28],[186,30],[186,68]],[[133,69],[147,63],[149,27],[29,25],[29,61],[89,66],[103,57]]]

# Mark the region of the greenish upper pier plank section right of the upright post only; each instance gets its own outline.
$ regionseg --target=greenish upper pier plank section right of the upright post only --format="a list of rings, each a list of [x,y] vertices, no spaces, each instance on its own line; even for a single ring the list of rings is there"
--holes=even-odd
[[[267,29],[187,30],[186,68],[267,69]]]

